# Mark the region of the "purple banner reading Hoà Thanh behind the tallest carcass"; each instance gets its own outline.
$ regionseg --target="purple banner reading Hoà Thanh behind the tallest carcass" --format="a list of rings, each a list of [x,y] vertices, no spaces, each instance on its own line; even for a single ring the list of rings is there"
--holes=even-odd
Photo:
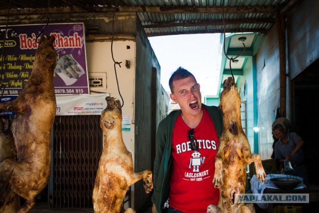
[[[0,26],[3,96],[17,96],[25,86],[38,47],[36,38],[39,40],[43,35],[55,37],[58,59],[53,78],[55,94],[89,94],[84,32],[83,23]]]

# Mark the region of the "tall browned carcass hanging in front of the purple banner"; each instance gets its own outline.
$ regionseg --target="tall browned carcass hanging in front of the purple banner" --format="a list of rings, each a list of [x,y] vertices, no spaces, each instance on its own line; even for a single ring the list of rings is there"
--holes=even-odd
[[[51,132],[56,112],[53,72],[57,63],[54,36],[42,36],[31,75],[18,97],[0,103],[0,110],[15,112],[12,134],[17,161],[0,163],[0,185],[9,180],[12,191],[26,202],[18,213],[28,212],[35,197],[48,184],[51,168]]]

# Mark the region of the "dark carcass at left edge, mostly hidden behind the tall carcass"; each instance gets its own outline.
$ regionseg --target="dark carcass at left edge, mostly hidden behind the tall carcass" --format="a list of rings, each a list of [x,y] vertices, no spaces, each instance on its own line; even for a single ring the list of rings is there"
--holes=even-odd
[[[15,161],[15,146],[9,119],[0,119],[0,163],[6,159]],[[0,212],[16,213],[20,209],[20,198],[8,185],[0,190]]]

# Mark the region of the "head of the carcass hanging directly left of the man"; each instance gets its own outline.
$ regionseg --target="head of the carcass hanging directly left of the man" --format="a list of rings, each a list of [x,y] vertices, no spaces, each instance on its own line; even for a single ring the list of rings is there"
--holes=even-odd
[[[106,97],[107,107],[102,111],[100,126],[103,130],[122,128],[121,102],[113,97]]]

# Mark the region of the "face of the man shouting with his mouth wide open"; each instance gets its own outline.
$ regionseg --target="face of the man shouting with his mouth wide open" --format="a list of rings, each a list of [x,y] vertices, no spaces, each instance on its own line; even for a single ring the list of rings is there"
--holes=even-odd
[[[201,112],[200,86],[192,76],[173,81],[170,98],[179,104],[184,114],[197,115]]]

